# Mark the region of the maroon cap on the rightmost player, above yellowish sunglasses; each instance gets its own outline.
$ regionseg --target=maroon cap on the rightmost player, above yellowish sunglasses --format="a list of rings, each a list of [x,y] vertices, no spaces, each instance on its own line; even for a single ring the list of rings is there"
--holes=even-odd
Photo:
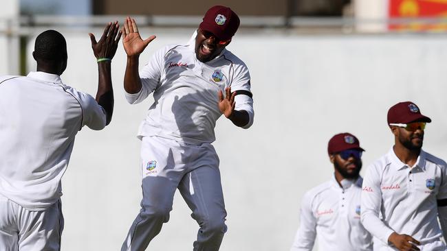
[[[388,123],[427,122],[431,119],[421,114],[421,110],[411,101],[405,101],[391,106],[388,110]]]

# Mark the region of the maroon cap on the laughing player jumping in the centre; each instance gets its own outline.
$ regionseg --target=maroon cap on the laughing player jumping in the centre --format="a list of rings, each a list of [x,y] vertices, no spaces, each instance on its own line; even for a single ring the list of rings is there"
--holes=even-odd
[[[221,5],[212,6],[203,20],[199,28],[215,34],[221,40],[230,40],[240,23],[239,16],[235,12]]]

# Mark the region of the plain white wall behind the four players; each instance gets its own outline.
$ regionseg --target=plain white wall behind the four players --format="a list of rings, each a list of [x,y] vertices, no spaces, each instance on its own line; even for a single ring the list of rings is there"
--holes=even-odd
[[[67,38],[66,84],[94,95],[97,67],[87,32]],[[93,31],[97,36],[102,29]],[[156,34],[140,64],[192,30]],[[30,44],[30,46],[32,43]],[[303,193],[328,180],[327,141],[339,132],[358,136],[364,169],[386,153],[393,136],[386,112],[411,100],[433,119],[424,149],[447,159],[447,36],[294,36],[240,32],[229,46],[252,75],[255,122],[249,130],[222,118],[215,147],[221,159],[228,232],[221,250],[288,250],[298,227]],[[32,51],[32,48],[29,48]],[[30,53],[29,53],[30,54]],[[30,69],[34,69],[32,58]],[[112,62],[116,106],[102,132],[84,128],[63,178],[63,250],[119,250],[141,199],[138,125],[151,100],[124,101],[122,46]],[[364,170],[363,170],[364,171]],[[150,250],[192,250],[197,224],[177,194],[171,220]]]

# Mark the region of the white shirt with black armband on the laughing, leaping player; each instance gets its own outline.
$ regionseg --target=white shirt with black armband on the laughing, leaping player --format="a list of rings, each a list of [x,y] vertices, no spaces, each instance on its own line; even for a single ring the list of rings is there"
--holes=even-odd
[[[168,45],[155,52],[140,71],[142,89],[126,93],[130,104],[137,104],[153,92],[154,104],[138,132],[142,136],[162,136],[190,144],[215,141],[215,124],[222,115],[218,92],[231,86],[236,95],[235,110],[246,110],[253,122],[250,73],[246,64],[223,49],[209,62],[200,62],[195,54],[195,36],[184,45]],[[224,92],[223,92],[224,93]]]

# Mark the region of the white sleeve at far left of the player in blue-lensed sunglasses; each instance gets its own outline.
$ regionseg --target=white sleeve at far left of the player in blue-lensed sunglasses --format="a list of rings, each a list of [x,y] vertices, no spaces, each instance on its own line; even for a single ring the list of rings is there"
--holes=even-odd
[[[290,251],[311,251],[316,237],[316,217],[312,213],[313,197],[306,193],[301,202],[300,226]]]

